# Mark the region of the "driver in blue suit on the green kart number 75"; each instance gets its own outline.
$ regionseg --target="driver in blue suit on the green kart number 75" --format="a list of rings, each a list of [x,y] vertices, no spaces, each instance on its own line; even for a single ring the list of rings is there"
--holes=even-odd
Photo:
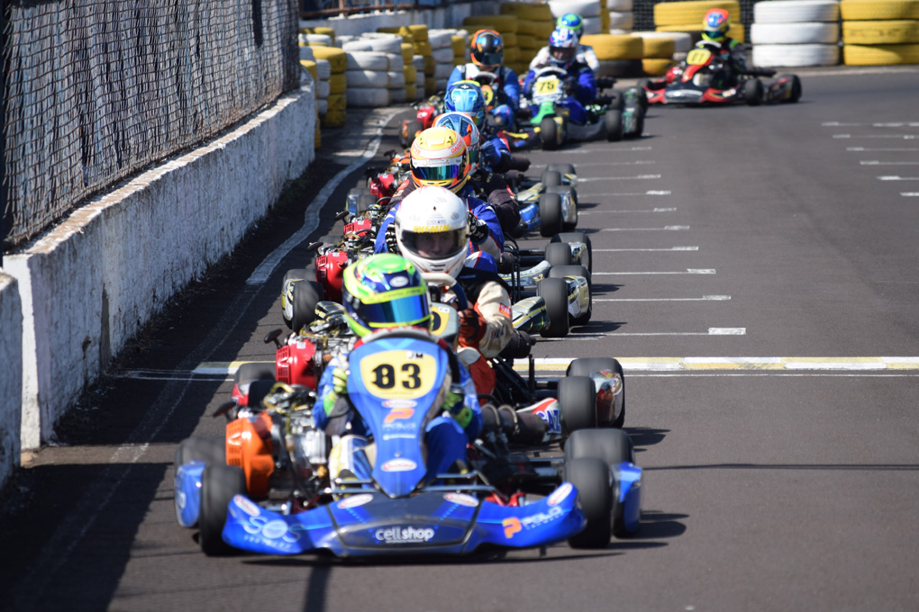
[[[533,95],[533,83],[536,82],[537,71],[543,68],[559,68],[565,72],[565,81],[571,86],[571,95],[562,100],[561,105],[568,108],[571,120],[576,124],[587,122],[587,112],[584,106],[591,104],[596,99],[596,80],[594,72],[587,64],[578,61],[577,37],[572,30],[555,29],[549,37],[549,58],[530,68],[527,80],[523,84],[524,94]]]

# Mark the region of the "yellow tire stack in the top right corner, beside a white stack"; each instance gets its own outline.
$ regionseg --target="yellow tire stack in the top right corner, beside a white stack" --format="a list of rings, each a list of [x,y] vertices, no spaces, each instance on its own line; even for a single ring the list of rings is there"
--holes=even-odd
[[[842,0],[843,63],[919,63],[919,0]]]

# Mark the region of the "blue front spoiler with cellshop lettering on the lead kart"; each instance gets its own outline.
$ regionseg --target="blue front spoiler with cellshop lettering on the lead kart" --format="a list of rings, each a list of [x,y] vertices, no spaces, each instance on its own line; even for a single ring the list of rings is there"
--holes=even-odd
[[[321,550],[339,557],[461,555],[483,544],[553,544],[579,533],[585,524],[570,483],[527,506],[498,506],[440,490],[399,499],[368,492],[295,515],[266,510],[236,495],[228,506],[223,540],[244,551],[279,555]]]

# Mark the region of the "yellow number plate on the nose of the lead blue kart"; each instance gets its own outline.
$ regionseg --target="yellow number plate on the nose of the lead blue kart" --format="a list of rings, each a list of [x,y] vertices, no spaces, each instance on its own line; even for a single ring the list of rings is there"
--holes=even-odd
[[[437,361],[416,351],[381,351],[360,362],[360,379],[383,399],[419,399],[437,383]]]

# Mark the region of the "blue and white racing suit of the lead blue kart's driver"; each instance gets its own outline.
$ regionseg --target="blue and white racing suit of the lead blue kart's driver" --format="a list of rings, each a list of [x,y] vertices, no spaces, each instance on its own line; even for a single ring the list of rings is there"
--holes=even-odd
[[[352,407],[344,417],[329,417],[337,402],[347,401],[346,395],[340,395],[340,392],[342,386],[346,387],[347,376],[350,375],[348,355],[356,343],[357,339],[347,348],[336,351],[326,366],[319,380],[318,399],[316,409],[313,410],[313,420],[317,428],[329,435],[341,437],[329,457],[329,470],[333,478],[343,473],[343,470],[359,477],[369,477],[368,468],[372,463],[373,451],[369,448],[368,443],[370,428],[357,414],[357,411]],[[450,414],[450,417],[435,417],[425,428],[425,444],[428,451],[425,478],[428,479],[437,473],[447,473],[458,461],[464,464],[466,446],[471,440],[478,438],[482,431],[482,409],[479,406],[479,398],[476,395],[471,374],[461,361],[459,362],[459,374],[460,378],[456,384],[461,387],[462,395],[455,396],[451,392],[445,401],[444,409]],[[335,390],[336,385],[339,391]],[[454,396],[451,397],[451,395]],[[364,450],[364,457],[368,458],[369,463],[363,464],[357,457],[359,450]]]

